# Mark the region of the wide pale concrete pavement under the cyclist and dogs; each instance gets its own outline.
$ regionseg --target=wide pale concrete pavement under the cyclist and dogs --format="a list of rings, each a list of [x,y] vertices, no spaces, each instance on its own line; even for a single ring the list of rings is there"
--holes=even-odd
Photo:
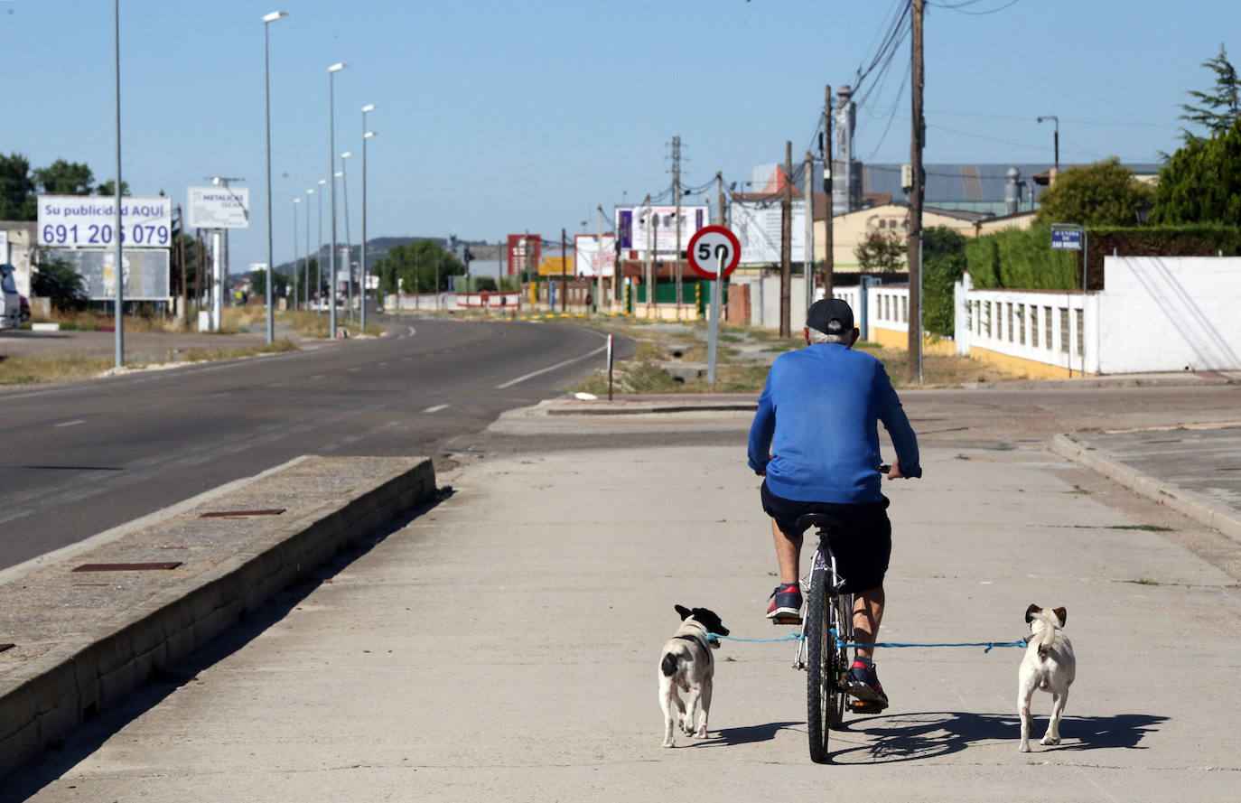
[[[882,637],[1010,640],[1030,602],[1066,606],[1064,745],[1016,752],[1020,650],[894,649],[892,707],[812,765],[793,645],[727,642],[710,738],[660,748],[674,603],[787,632],[762,617],[774,560],[743,432],[442,477],[452,498],[6,783],[40,802],[1236,799],[1236,581],[1034,448],[927,448],[926,479],[887,484]],[[1039,736],[1049,710],[1039,695]]]

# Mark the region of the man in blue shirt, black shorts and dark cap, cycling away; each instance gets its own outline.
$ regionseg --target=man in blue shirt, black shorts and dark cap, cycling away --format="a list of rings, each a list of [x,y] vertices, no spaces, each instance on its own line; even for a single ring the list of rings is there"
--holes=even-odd
[[[884,364],[854,351],[860,334],[853,309],[825,298],[805,314],[805,349],[782,354],[772,364],[750,427],[750,468],[764,477],[763,510],[772,518],[779,586],[767,618],[800,622],[798,567],[802,532],[797,519],[827,513],[839,519],[846,537],[833,541],[836,566],[854,594],[854,635],[874,643],[884,617],[884,576],[892,551],[887,498],[876,470],[877,422],[884,422],[896,458],[889,479],[920,477],[918,442],[892,388]],[[856,648],[849,669],[850,694],[887,707],[875,673],[874,648]]]

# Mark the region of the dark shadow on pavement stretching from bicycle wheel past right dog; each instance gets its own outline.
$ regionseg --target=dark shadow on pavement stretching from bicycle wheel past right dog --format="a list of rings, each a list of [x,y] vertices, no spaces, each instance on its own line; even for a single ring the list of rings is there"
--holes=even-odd
[[[1167,716],[1149,714],[1065,716],[1060,724],[1065,743],[1056,747],[1035,747],[1035,751],[1145,750],[1140,745],[1142,738],[1167,721]],[[1031,742],[1042,738],[1046,727],[1047,719],[1036,716],[1030,733]],[[928,711],[846,720],[840,732],[866,736],[870,740],[866,745],[831,752],[833,763],[895,763],[937,758],[988,741],[1011,741],[1013,750],[1016,751],[1020,722],[1015,714]],[[833,736],[835,733],[833,732]]]

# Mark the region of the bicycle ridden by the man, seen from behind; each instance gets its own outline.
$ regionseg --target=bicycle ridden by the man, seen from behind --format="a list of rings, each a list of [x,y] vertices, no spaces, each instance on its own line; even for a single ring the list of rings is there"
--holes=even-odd
[[[889,465],[880,465],[886,474]],[[921,475],[921,472],[918,472]],[[825,513],[798,516],[800,532],[817,527],[819,545],[810,561],[808,580],[802,583],[808,593],[802,611],[802,632],[797,639],[794,669],[805,669],[805,731],[810,745],[810,761],[824,763],[828,756],[829,731],[840,730],[846,710],[855,714],[879,714],[882,707],[861,700],[849,701],[849,654],[846,644],[854,639],[854,596],[845,593],[845,578],[836,571],[831,551],[833,537],[844,535],[844,524]],[[802,659],[803,652],[805,660]]]

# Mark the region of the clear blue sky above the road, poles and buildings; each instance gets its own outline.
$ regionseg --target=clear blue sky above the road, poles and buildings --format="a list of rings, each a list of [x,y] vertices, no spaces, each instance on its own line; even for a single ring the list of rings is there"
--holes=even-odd
[[[177,202],[206,176],[244,176],[252,225],[233,236],[232,271],[264,261],[261,17],[283,10],[271,25],[278,263],[293,254],[293,199],[328,176],[326,68],[339,61],[350,65],[336,74],[336,153],[354,151],[354,241],[367,103],[379,105],[371,237],[558,238],[583,220],[594,231],[596,205],[611,212],[669,185],[674,134],[686,186],[717,170],[745,181],[782,160],[786,140],[802,155],[824,84],[854,83],[897,1],[120,0],[123,174],[135,195]],[[112,25],[103,0],[0,0],[0,150],[113,175]],[[1035,118],[1056,114],[1062,163],[1154,161],[1175,150],[1178,104],[1207,88],[1200,65],[1221,40],[1241,65],[1241,42],[1226,40],[1239,26],[1236,0],[932,6],[926,160],[1050,164],[1051,125]],[[859,110],[862,159],[908,160],[907,66],[906,40]],[[305,200],[298,210],[304,249]],[[338,226],[344,241],[343,211]]]

